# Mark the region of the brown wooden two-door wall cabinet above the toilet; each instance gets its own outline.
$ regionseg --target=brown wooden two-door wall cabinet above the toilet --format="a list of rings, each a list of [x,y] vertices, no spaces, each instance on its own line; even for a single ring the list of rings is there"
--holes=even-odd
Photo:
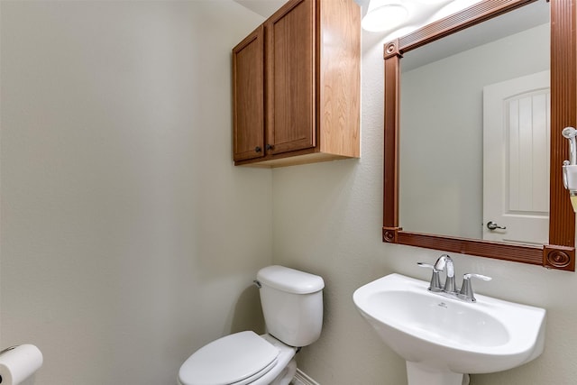
[[[360,156],[361,11],[290,0],[233,49],[234,164]]]

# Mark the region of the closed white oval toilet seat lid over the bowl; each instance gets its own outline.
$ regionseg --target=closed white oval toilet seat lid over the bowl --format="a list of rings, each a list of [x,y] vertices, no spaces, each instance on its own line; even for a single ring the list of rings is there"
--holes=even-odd
[[[188,357],[180,367],[179,380],[186,385],[246,383],[243,380],[270,371],[278,355],[278,348],[254,332],[226,335]]]

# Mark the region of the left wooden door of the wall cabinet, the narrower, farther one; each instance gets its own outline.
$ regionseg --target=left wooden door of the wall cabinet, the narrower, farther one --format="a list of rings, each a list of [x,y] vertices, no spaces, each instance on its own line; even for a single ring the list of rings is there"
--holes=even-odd
[[[234,160],[264,156],[264,27],[233,49]]]

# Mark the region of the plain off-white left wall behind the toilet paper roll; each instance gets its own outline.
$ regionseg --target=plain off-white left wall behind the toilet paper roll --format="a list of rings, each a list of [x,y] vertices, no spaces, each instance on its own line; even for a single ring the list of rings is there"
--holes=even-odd
[[[1,3],[0,344],[35,382],[173,384],[261,327],[271,172],[234,168],[229,1]],[[257,316],[255,316],[257,315]]]

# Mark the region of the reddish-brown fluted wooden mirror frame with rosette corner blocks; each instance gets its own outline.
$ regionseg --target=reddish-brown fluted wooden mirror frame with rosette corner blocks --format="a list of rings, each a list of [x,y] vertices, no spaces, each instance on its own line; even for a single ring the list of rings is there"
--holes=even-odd
[[[558,270],[575,270],[575,215],[563,187],[563,160],[569,159],[563,127],[577,127],[577,0],[551,0],[551,170],[549,243],[518,245],[404,231],[398,226],[398,124],[400,59],[403,53],[484,22],[536,0],[483,0],[384,46],[385,151],[382,240],[444,252],[461,252]],[[539,47],[535,48],[540,54]]]

